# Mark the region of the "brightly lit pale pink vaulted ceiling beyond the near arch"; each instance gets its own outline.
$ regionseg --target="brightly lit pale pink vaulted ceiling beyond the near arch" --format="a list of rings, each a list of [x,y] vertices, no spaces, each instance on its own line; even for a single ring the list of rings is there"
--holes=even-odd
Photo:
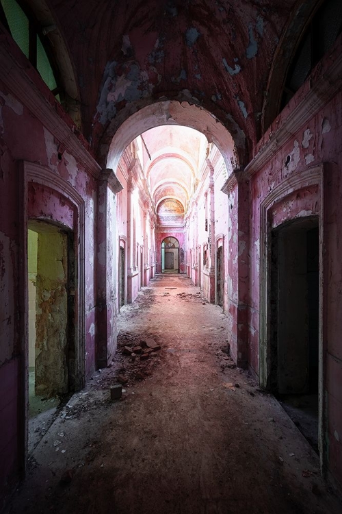
[[[135,139],[156,211],[176,199],[186,211],[194,183],[206,157],[207,138],[189,127],[161,125]]]

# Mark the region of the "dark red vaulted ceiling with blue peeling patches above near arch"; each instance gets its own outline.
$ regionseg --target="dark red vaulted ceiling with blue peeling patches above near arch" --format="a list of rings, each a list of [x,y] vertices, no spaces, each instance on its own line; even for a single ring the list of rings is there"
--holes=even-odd
[[[114,120],[117,130],[141,108],[179,100],[211,112],[251,156],[274,52],[291,14],[310,1],[49,0],[94,154],[103,156]]]

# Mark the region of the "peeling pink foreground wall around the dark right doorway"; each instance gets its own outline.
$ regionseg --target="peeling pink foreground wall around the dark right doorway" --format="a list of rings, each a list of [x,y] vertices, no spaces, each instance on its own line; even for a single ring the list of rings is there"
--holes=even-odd
[[[341,47],[341,43],[340,43]],[[338,49],[341,52],[341,48]],[[332,56],[333,58],[333,56]],[[324,64],[328,69],[330,62]],[[311,84],[322,73],[315,70]],[[291,110],[308,94],[310,84],[306,83],[282,111],[278,119],[265,134],[259,147],[272,144],[272,132],[287,124]],[[326,96],[329,98],[329,95]],[[308,112],[310,112],[308,110]],[[276,223],[315,214],[323,208],[323,305],[320,306],[323,323],[323,391],[327,420],[324,424],[324,439],[328,441],[326,464],[332,475],[342,485],[342,316],[341,289],[342,267],[342,95],[337,93],[313,117],[291,136],[287,143],[276,149],[261,169],[250,180],[250,306],[248,309],[249,347],[248,361],[256,374],[259,372],[259,315],[260,299],[260,223],[261,203],[279,184],[289,177],[308,172],[323,165],[323,206],[320,199],[313,203],[310,188],[298,191],[294,197],[282,200],[282,209],[276,215]],[[316,200],[315,200],[316,201]],[[313,212],[314,211],[314,212]],[[322,284],[321,284],[322,286]]]

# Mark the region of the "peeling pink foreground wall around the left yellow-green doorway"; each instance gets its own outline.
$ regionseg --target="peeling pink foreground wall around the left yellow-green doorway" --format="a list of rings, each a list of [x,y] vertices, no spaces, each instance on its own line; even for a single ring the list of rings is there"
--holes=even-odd
[[[70,137],[73,134],[70,133]],[[86,375],[94,370],[95,360],[95,295],[94,241],[96,183],[75,158],[64,152],[58,158],[54,136],[38,119],[11,95],[0,82],[0,269],[1,269],[1,344],[0,382],[0,451],[3,461],[0,471],[0,496],[10,491],[23,469],[25,456],[25,348],[23,348],[23,304],[21,291],[25,249],[19,247],[23,219],[24,198],[21,197],[21,161],[38,162],[60,175],[81,195],[85,204],[86,225],[81,228],[87,241],[86,266]],[[75,228],[77,212],[62,195],[38,184],[29,187],[29,216],[62,223]],[[81,336],[81,334],[80,334]],[[84,377],[86,378],[86,377]],[[19,401],[18,398],[21,400]]]

